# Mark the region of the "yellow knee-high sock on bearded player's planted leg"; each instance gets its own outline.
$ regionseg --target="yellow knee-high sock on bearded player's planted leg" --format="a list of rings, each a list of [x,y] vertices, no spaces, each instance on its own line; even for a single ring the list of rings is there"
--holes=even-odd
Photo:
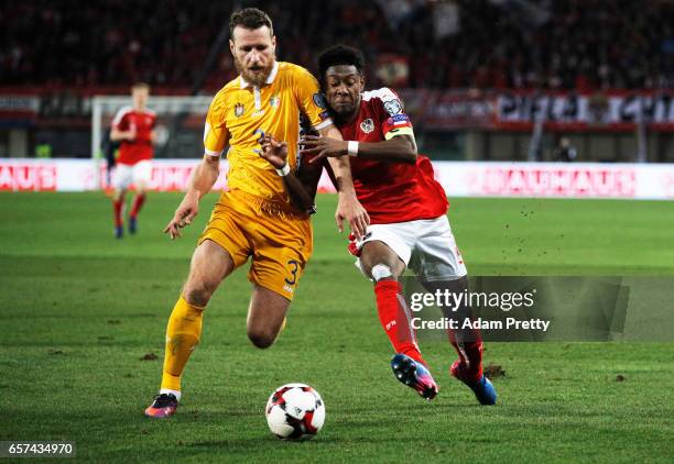
[[[183,296],[175,303],[166,327],[162,389],[181,390],[183,369],[202,336],[204,309],[189,305]]]

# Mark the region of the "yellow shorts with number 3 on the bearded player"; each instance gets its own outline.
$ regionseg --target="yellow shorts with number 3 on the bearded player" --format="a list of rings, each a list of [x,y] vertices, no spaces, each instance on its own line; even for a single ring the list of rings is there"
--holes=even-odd
[[[198,243],[205,240],[227,250],[235,269],[252,256],[248,279],[289,300],[313,250],[306,214],[241,190],[220,196]]]

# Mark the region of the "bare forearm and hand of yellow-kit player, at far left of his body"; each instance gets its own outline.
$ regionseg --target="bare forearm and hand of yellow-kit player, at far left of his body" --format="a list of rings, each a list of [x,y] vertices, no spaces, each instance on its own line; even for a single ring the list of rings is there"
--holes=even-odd
[[[189,187],[185,197],[175,210],[175,214],[164,229],[164,233],[171,235],[171,240],[181,236],[181,229],[189,225],[199,212],[199,200],[210,191],[218,175],[220,174],[220,158],[218,156],[205,155],[192,174]]]

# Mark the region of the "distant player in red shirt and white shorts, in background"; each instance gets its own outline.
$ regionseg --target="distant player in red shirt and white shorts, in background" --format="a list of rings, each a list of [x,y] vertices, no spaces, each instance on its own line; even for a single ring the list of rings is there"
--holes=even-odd
[[[145,202],[145,189],[152,176],[153,143],[155,140],[154,126],[156,114],[145,108],[150,86],[134,84],[131,87],[132,107],[120,109],[112,120],[110,140],[120,142],[119,157],[112,175],[112,207],[115,210],[115,236],[121,239],[124,234],[123,209],[124,195],[131,184],[135,186],[135,196],[129,212],[129,232],[135,233],[138,229],[138,213]]]

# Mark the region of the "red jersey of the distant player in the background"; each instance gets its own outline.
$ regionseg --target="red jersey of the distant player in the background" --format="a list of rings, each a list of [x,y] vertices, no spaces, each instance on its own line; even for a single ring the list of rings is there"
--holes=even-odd
[[[121,142],[117,163],[134,165],[143,159],[152,159],[154,154],[152,131],[155,124],[156,114],[154,111],[148,109],[137,111],[131,107],[119,110],[112,120],[112,128],[120,131],[129,131],[131,128],[135,128],[135,139]]]

